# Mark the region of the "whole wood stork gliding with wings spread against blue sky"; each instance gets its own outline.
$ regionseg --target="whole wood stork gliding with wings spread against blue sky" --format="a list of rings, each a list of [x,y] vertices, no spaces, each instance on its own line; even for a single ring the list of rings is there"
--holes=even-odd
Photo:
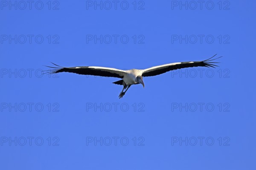
[[[213,57],[215,57],[216,55],[217,54],[215,54]],[[188,68],[188,67],[215,68],[214,66],[218,66],[218,65],[214,65],[212,63],[219,63],[219,62],[212,62],[212,61],[220,57],[212,59],[213,57],[203,61],[174,62],[170,64],[154,66],[147,69],[131,69],[131,70],[119,70],[116,68],[97,67],[97,66],[61,67],[59,65],[52,63],[58,67],[47,66],[49,68],[54,68],[54,69],[44,72],[44,74],[70,72],[70,73],[93,75],[93,76],[117,77],[117,78],[120,78],[121,80],[113,83],[116,85],[123,85],[123,89],[119,94],[119,99],[120,99],[125,95],[126,91],[131,87],[131,85],[142,84],[144,88],[143,77],[156,76],[158,74],[163,74],[163,73],[166,73],[167,71],[172,71],[180,68]]]

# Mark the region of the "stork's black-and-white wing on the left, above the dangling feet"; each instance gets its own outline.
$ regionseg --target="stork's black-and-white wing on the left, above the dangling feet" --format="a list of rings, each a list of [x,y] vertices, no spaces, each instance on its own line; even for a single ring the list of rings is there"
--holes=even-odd
[[[108,68],[108,67],[97,67],[97,66],[61,67],[56,64],[54,65],[58,67],[47,66],[53,69],[44,72],[44,74],[70,72],[70,73],[76,73],[76,74],[103,76],[103,77],[117,77],[117,78],[123,78],[127,74],[125,70],[119,70],[116,68]]]

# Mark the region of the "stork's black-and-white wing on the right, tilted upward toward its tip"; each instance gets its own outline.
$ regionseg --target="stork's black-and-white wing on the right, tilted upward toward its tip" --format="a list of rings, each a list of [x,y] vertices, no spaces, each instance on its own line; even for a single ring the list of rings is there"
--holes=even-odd
[[[215,54],[213,57],[215,57],[216,55],[217,54]],[[201,67],[215,68],[215,66],[218,66],[218,65],[214,65],[212,63],[219,63],[219,62],[212,62],[212,61],[215,59],[221,58],[222,56],[212,59],[213,57],[206,59],[204,61],[174,62],[174,63],[170,63],[170,64],[154,66],[154,67],[147,68],[147,69],[143,70],[142,77],[156,76],[158,74],[166,73],[167,71],[176,70],[176,69],[180,69],[180,68],[188,68],[188,67],[201,66]]]

